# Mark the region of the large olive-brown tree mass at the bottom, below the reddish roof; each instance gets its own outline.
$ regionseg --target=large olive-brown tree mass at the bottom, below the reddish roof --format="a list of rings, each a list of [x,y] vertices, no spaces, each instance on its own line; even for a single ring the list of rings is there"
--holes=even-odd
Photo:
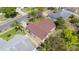
[[[62,51],[65,49],[64,39],[59,37],[50,36],[40,47],[37,48],[40,51]]]

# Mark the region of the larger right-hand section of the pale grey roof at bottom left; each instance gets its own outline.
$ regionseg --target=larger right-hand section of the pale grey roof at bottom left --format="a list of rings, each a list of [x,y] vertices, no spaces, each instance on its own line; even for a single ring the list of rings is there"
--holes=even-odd
[[[34,49],[32,42],[22,35],[16,35],[9,41],[9,44],[11,45],[11,47],[14,47],[15,50],[18,51],[31,51]]]

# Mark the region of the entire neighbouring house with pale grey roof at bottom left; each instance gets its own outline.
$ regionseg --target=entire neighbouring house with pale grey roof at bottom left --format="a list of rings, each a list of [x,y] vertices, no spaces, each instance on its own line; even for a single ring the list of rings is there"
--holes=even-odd
[[[23,35],[16,35],[8,42],[0,40],[0,51],[34,51],[32,42]]]

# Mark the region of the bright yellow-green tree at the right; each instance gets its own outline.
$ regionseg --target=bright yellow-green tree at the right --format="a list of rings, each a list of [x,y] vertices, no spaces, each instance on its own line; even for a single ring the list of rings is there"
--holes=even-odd
[[[78,36],[73,34],[72,30],[64,29],[64,38],[66,39],[66,48],[73,50],[73,45],[76,47],[76,43],[78,43]]]

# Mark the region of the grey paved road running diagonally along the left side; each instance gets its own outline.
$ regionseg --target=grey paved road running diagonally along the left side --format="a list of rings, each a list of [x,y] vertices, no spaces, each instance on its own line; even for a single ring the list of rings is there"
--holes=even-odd
[[[8,29],[9,27],[11,27],[11,25],[13,24],[14,21],[21,22],[21,21],[26,21],[26,20],[28,20],[27,15],[19,17],[17,19],[7,20],[0,24],[0,31],[4,31],[4,30]]]

